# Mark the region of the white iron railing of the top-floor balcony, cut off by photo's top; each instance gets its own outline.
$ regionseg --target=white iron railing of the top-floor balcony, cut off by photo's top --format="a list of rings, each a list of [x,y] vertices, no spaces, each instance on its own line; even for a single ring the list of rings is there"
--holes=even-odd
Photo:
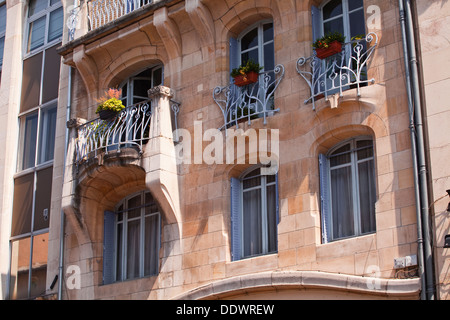
[[[97,29],[151,3],[153,0],[89,0],[87,2],[89,30]]]

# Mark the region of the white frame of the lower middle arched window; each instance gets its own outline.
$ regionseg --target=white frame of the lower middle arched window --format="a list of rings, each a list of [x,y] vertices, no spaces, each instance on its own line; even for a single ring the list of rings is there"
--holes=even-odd
[[[252,167],[249,170],[246,170],[242,175],[240,180],[240,225],[241,225],[241,259],[247,259],[247,258],[252,258],[252,257],[256,257],[256,256],[261,256],[261,255],[267,255],[267,254],[272,254],[272,253],[276,253],[278,251],[278,248],[275,251],[271,251],[269,252],[269,234],[268,234],[268,212],[267,212],[267,187],[269,186],[275,186],[275,188],[277,188],[277,178],[275,175],[275,179],[273,182],[267,182],[267,176],[266,175],[262,175],[261,172],[259,175],[256,176],[252,176],[252,177],[247,177],[248,174],[250,174],[251,172],[253,172],[254,170],[261,170],[261,168],[255,168]],[[255,177],[260,177],[261,178],[261,183],[259,186],[255,186],[255,187],[251,187],[251,188],[246,188],[244,189],[244,181],[247,179],[252,179]],[[252,190],[257,190],[260,189],[261,190],[261,212],[259,213],[261,215],[261,242],[262,242],[262,252],[260,253],[256,253],[253,255],[244,255],[244,248],[245,248],[245,237],[244,237],[244,192],[248,192],[248,191],[252,191]],[[277,202],[278,199],[275,199],[275,201]],[[274,214],[276,214],[276,212],[274,212]],[[275,234],[277,234],[277,227],[275,227]],[[278,245],[277,245],[278,247]]]

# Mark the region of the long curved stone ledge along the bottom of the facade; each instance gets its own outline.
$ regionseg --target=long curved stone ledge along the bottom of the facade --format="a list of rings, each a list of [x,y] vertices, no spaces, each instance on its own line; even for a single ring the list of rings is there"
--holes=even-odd
[[[325,289],[385,298],[419,298],[420,279],[383,279],[320,271],[271,271],[218,280],[174,300],[221,299],[261,290]]]

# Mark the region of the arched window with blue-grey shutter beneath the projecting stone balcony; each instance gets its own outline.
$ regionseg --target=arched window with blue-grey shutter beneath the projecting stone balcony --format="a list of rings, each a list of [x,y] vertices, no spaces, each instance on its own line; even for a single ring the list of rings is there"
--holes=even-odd
[[[133,194],[105,212],[104,284],[156,275],[161,218],[150,192]]]

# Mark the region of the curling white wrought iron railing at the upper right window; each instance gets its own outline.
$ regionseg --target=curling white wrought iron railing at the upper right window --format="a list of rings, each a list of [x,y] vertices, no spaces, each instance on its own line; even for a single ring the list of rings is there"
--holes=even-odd
[[[315,53],[309,58],[297,60],[297,72],[305,79],[310,88],[310,97],[304,102],[311,102],[315,109],[315,101],[343,91],[356,88],[360,96],[360,87],[374,83],[368,79],[368,62],[378,44],[378,36],[369,33],[363,39],[352,40],[342,46],[342,51],[324,60]]]

